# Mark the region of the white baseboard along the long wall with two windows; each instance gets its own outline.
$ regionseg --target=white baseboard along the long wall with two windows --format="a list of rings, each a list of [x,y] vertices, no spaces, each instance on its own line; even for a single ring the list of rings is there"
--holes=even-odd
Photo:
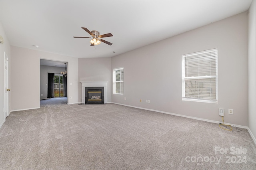
[[[192,117],[192,116],[186,116],[186,115],[179,115],[179,114],[176,114],[176,113],[169,113],[169,112],[164,112],[164,111],[157,111],[157,110],[154,110],[154,109],[147,109],[147,108],[143,108],[143,107],[136,107],[136,106],[124,105],[124,104],[120,104],[120,103],[114,103],[114,102],[111,102],[111,103],[117,104],[117,105],[128,106],[128,107],[134,107],[134,108],[143,109],[143,110],[148,110],[148,111],[154,111],[154,112],[158,112],[158,113],[165,113],[165,114],[168,114],[168,115],[186,117],[186,118],[189,118],[189,119],[196,119],[196,120],[199,120],[199,121],[206,121],[206,122],[210,122],[210,123],[217,123],[217,124],[219,124],[219,123],[221,122],[221,121],[213,121],[213,120],[209,120],[209,119],[202,119],[202,118],[198,118],[198,117]],[[234,124],[232,124],[232,123],[226,123],[226,124],[234,125]],[[256,144],[256,138],[255,138],[254,135],[252,134],[252,132],[251,132],[251,130],[250,130],[249,127],[242,126],[242,125],[234,125],[234,126],[239,127],[239,128],[246,128],[246,129],[248,130],[249,134],[251,135],[252,140],[253,140],[254,143]]]

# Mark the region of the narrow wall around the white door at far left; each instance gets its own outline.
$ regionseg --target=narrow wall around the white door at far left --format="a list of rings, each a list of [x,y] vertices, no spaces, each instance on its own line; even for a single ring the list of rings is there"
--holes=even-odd
[[[8,38],[6,37],[6,34],[4,32],[4,28],[2,26],[2,23],[0,22],[0,36],[3,37],[4,39],[4,43],[0,43],[0,127],[2,127],[4,121],[5,121],[5,117],[4,117],[4,52],[6,52],[6,54],[8,55],[8,67],[9,67],[9,89],[12,90],[11,88],[11,82],[10,82],[10,76],[11,76],[11,72],[10,72],[10,59],[11,59],[11,46],[10,43],[8,41]],[[11,93],[12,91],[9,91],[9,103],[10,103],[10,99],[11,99]],[[10,112],[10,106],[9,106],[9,112]]]

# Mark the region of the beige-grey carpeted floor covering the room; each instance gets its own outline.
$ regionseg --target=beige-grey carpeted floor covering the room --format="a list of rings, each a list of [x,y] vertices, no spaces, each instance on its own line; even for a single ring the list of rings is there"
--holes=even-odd
[[[67,105],[10,113],[0,128],[0,169],[256,169],[246,129],[115,104]]]

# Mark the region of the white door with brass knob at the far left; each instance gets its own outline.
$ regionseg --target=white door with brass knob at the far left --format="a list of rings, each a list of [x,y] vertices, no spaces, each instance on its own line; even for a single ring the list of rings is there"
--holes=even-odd
[[[4,52],[4,119],[9,116],[8,56]]]

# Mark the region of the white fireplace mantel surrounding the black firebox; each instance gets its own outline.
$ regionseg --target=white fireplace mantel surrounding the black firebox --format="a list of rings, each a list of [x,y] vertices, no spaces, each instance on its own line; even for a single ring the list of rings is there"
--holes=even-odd
[[[104,87],[104,103],[108,102],[108,81],[81,81],[82,83],[82,105],[85,104],[85,87]]]

